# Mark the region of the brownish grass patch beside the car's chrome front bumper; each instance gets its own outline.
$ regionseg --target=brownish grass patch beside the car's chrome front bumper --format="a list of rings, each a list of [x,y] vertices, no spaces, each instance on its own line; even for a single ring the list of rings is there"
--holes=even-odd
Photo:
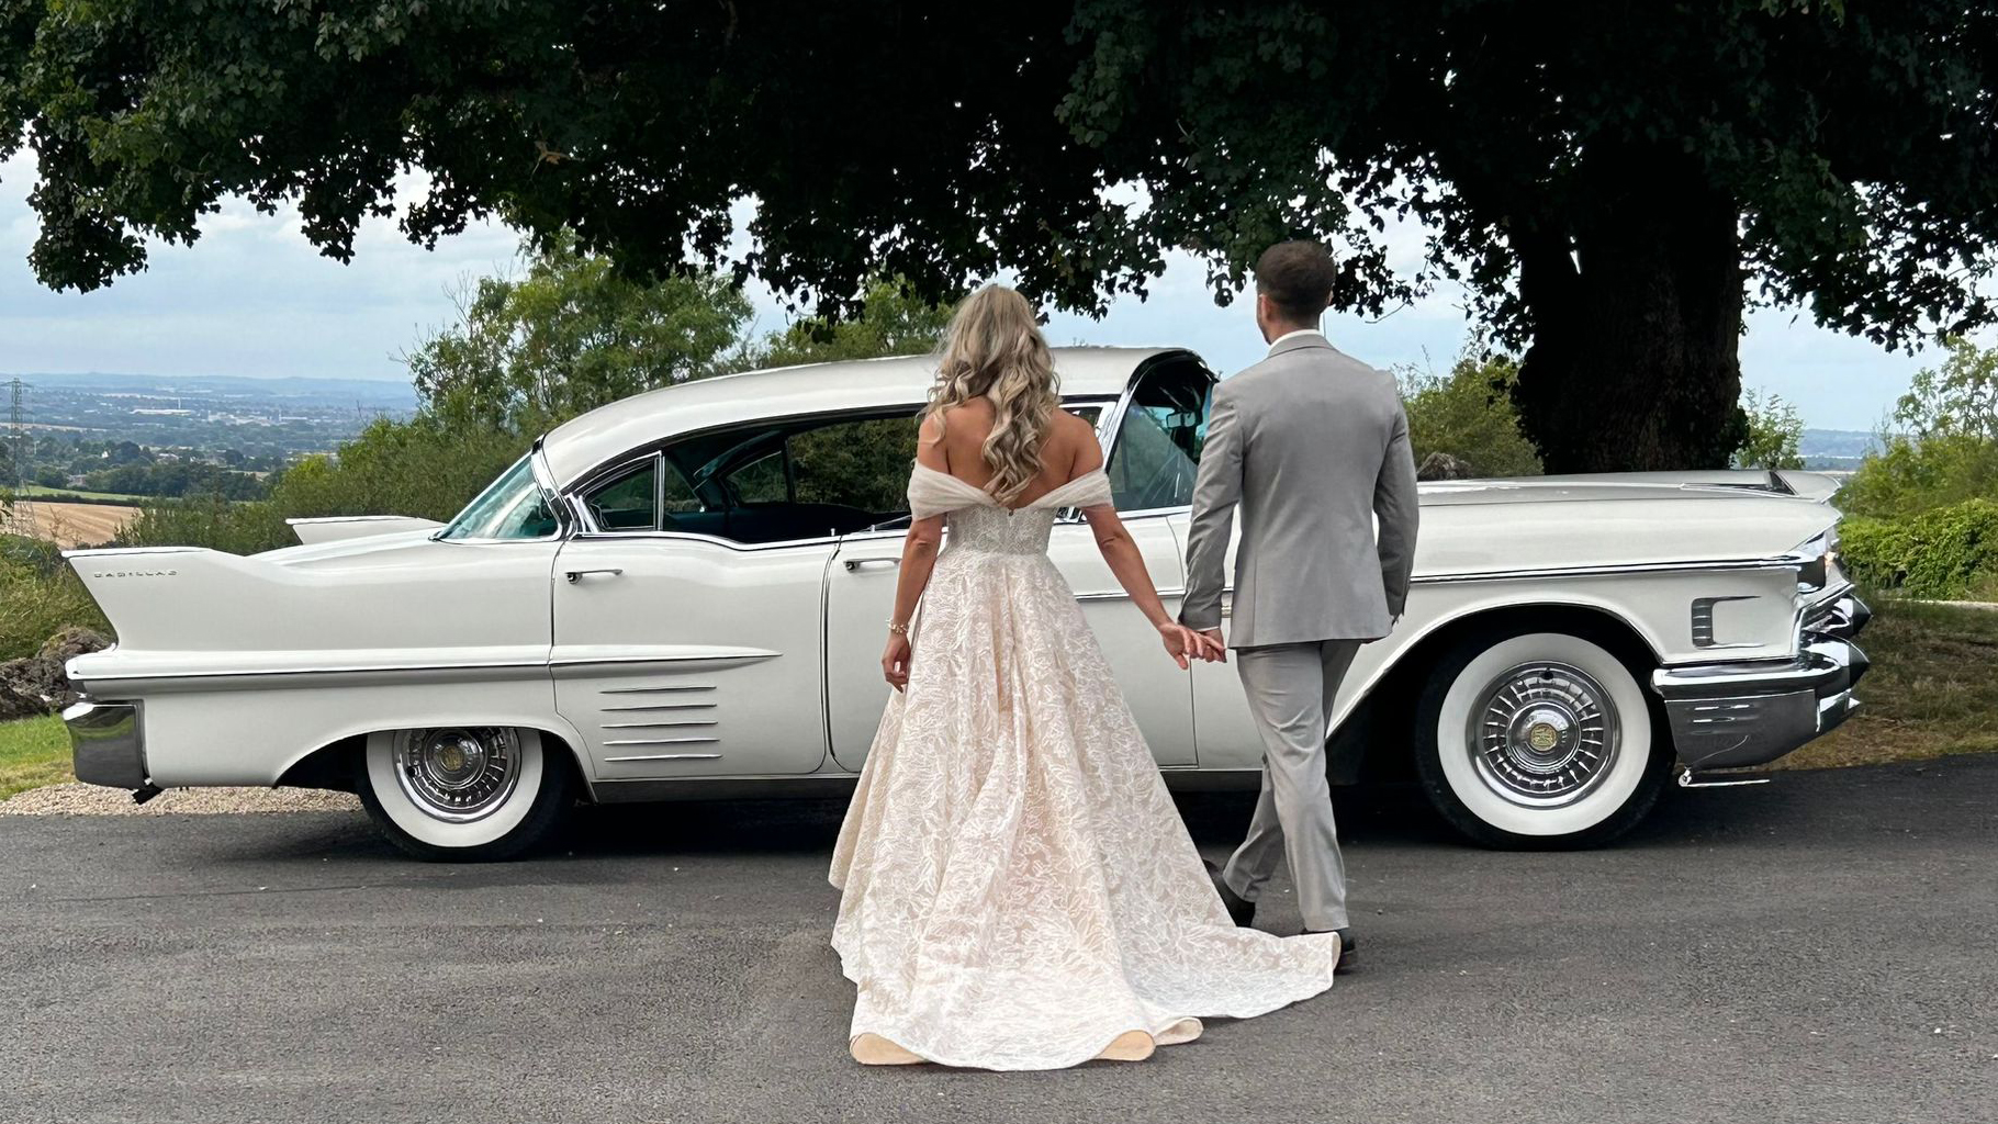
[[[1998,611],[1868,597],[1862,707],[1776,769],[1884,765],[1998,751]]]

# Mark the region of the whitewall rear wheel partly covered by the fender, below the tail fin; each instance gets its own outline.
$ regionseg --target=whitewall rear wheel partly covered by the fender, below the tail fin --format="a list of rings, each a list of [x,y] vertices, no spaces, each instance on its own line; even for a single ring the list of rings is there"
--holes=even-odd
[[[442,727],[368,735],[362,805],[406,854],[513,858],[569,811],[569,765],[515,727]]]

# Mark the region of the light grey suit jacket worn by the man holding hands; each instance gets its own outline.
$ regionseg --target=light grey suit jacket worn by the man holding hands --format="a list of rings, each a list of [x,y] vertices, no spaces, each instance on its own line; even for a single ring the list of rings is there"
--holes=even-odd
[[[1311,333],[1215,387],[1179,613],[1191,629],[1221,625],[1237,507],[1231,647],[1385,637],[1419,519],[1395,379]]]

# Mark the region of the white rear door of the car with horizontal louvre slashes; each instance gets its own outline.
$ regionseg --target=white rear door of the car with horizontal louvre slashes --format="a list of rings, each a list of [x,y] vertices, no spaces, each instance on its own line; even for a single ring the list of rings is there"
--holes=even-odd
[[[815,771],[825,761],[817,619],[833,539],[673,531],[675,509],[703,505],[657,455],[579,495],[589,529],[555,557],[549,663],[555,707],[581,733],[597,779]]]

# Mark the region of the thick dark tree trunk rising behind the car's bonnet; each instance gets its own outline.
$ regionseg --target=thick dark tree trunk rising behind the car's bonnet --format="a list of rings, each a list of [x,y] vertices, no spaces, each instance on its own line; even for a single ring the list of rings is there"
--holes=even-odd
[[[1514,228],[1520,423],[1548,473],[1726,467],[1746,437],[1738,208],[1678,162],[1612,164],[1596,206]]]

